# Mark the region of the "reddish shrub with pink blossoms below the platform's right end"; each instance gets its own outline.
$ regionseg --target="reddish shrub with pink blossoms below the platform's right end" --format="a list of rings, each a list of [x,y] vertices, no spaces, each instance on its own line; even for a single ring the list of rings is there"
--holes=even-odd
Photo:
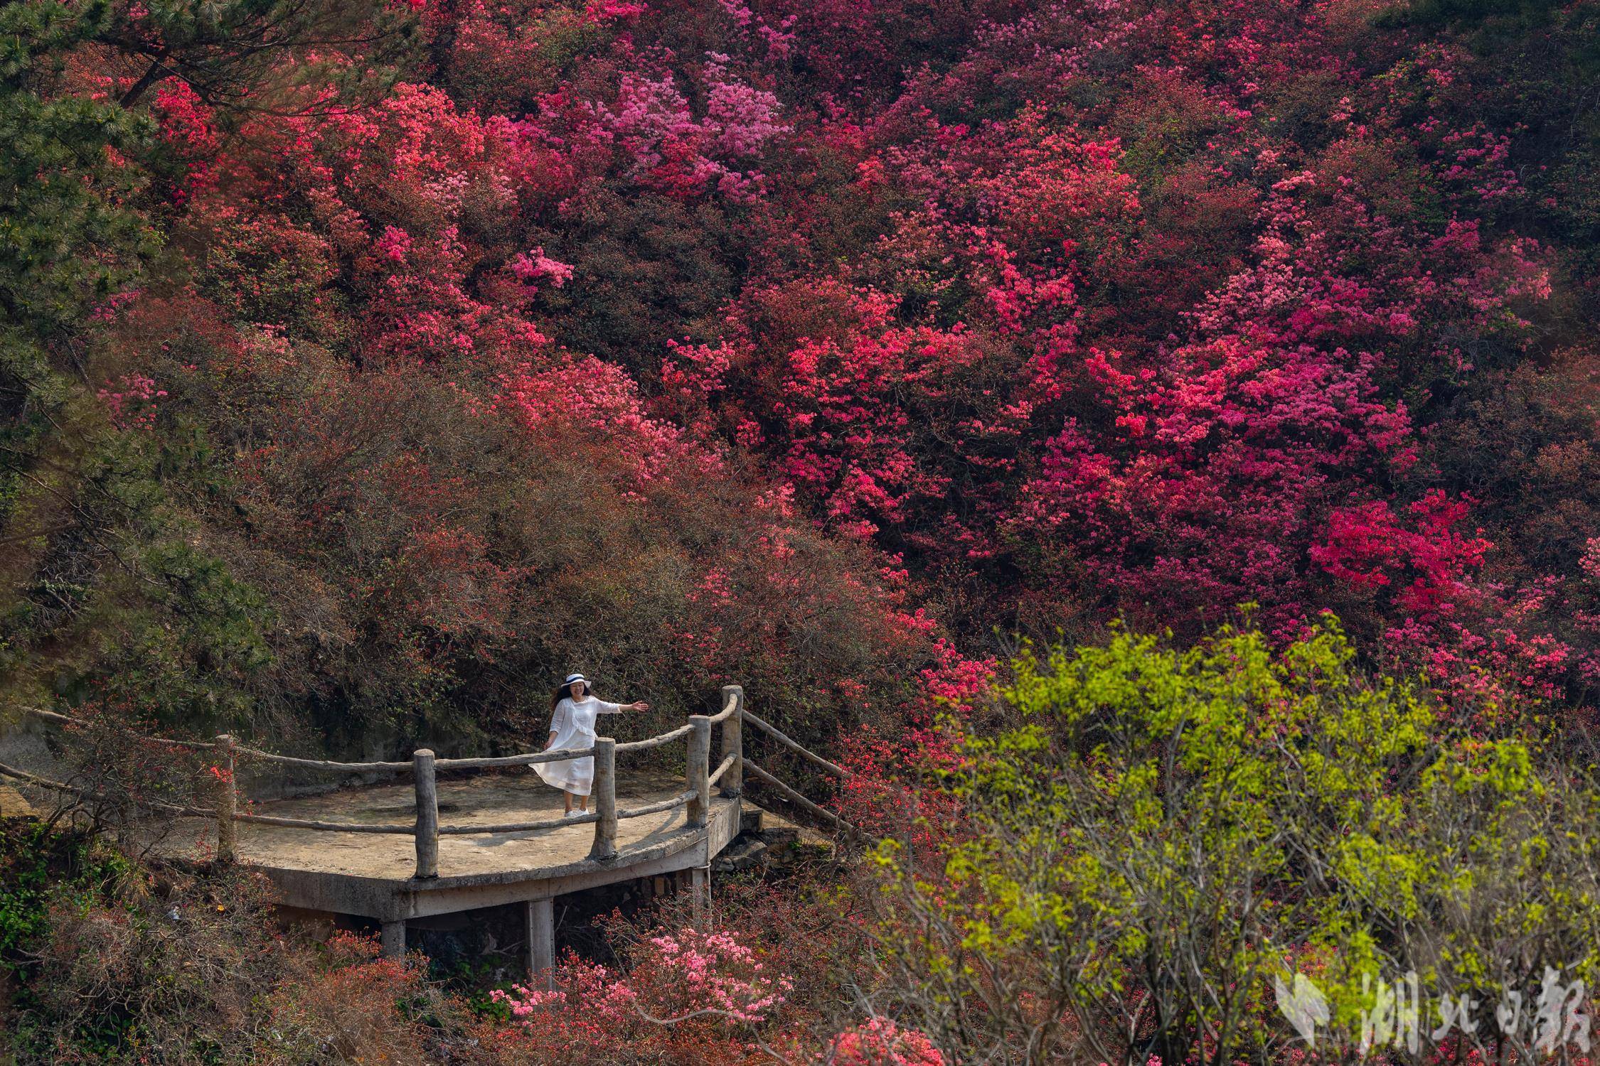
[[[926,1034],[842,1000],[840,983],[870,977],[870,911],[826,866],[800,860],[792,877],[720,884],[709,929],[678,925],[682,897],[648,925],[605,922],[616,967],[568,957],[547,989],[493,992],[506,1018],[474,1029],[486,1061],[950,1061]]]

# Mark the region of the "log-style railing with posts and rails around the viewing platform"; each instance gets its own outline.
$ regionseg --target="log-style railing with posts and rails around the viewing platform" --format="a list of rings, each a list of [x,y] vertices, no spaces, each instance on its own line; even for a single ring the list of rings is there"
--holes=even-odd
[[[190,748],[200,751],[214,751],[218,754],[219,766],[216,769],[218,778],[218,796],[214,809],[203,810],[198,807],[184,807],[178,804],[166,804],[160,801],[133,799],[138,805],[147,807],[150,810],[158,810],[163,813],[174,813],[182,817],[211,817],[216,820],[218,826],[218,858],[221,861],[232,861],[237,852],[235,823],[245,821],[250,825],[266,825],[291,829],[314,829],[322,833],[384,833],[384,834],[410,834],[416,841],[416,877],[429,879],[438,876],[438,837],[440,836],[472,836],[472,834],[499,834],[499,833],[531,833],[538,829],[554,829],[570,825],[594,825],[595,837],[594,847],[589,852],[590,858],[595,860],[611,860],[616,857],[616,826],[619,820],[624,818],[640,818],[651,813],[661,813],[664,810],[672,810],[675,807],[686,807],[686,823],[690,828],[704,828],[710,817],[710,790],[715,786],[720,790],[722,796],[738,796],[744,786],[744,772],[749,770],[757,780],[773,786],[781,796],[790,802],[803,807],[805,810],[818,815],[819,818],[837,825],[840,828],[856,831],[856,826],[845,821],[838,815],[818,804],[811,802],[800,793],[794,791],[776,777],[760,769],[754,762],[744,758],[744,732],[742,724],[749,721],[762,732],[768,734],[778,740],[786,748],[795,751],[810,762],[819,766],[835,777],[848,777],[846,772],[829,762],[822,756],[810,751],[798,742],[789,738],[778,727],[755,716],[746,708],[744,689],[736,684],[723,686],[722,689],[723,705],[715,714],[694,714],[690,718],[686,726],[670,729],[656,737],[645,740],[630,740],[627,743],[618,743],[611,737],[597,737],[594,746],[590,748],[560,748],[554,751],[530,751],[523,754],[512,756],[490,756],[490,758],[467,758],[467,759],[438,759],[430,750],[419,750],[413,753],[408,762],[338,762],[333,759],[301,759],[296,756],[283,756],[270,751],[261,751],[259,748],[248,748],[234,740],[234,737],[222,734],[214,740],[179,740],[171,737],[144,737],[144,740],[173,746],[173,748]],[[46,711],[40,708],[26,708],[29,713],[51,722],[64,722],[72,726],[90,726],[82,718],[74,718],[70,714],[61,714],[58,711]],[[710,734],[712,727],[722,726],[722,745],[718,754],[722,756],[715,769],[710,767]],[[656,802],[643,804],[638,807],[618,809],[616,805],[616,756],[630,751],[646,751],[651,748],[659,748],[669,745],[674,740],[688,738],[686,750],[686,769],[685,783],[688,788],[677,796],[661,799]],[[259,815],[248,810],[238,809],[238,791],[234,780],[234,770],[237,759],[250,758],[264,762],[274,762],[278,766],[293,766],[310,770],[336,770],[346,774],[363,774],[363,772],[410,772],[413,777],[413,791],[416,794],[416,821],[411,825],[389,823],[374,825],[363,821],[317,821],[309,818],[283,818],[277,815]],[[562,817],[562,818],[541,818],[534,821],[514,821],[506,825],[445,825],[438,823],[438,770],[482,770],[482,769],[498,769],[512,766],[534,766],[541,762],[560,762],[566,759],[587,759],[595,761],[595,777],[594,777],[594,799],[595,809],[592,812]],[[64,782],[53,782],[35,774],[27,774],[14,767],[0,764],[0,777],[11,777],[16,780],[27,782],[42,788],[51,788],[56,791],[64,791],[80,798],[90,799],[106,799],[88,790],[67,785]]]

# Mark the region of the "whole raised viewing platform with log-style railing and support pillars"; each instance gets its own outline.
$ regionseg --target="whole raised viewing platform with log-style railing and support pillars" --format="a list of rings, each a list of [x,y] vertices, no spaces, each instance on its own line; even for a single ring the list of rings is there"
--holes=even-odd
[[[854,831],[744,758],[747,719],[773,740],[814,766],[843,778],[838,766],[808,751],[744,708],[744,689],[723,686],[717,714],[691,714],[685,726],[648,740],[618,743],[595,737],[587,748],[546,750],[514,756],[440,759],[422,748],[410,761],[334,762],[304,759],[240,745],[222,734],[211,742],[146,737],[155,746],[205,751],[216,782],[211,805],[139,801],[150,812],[139,836],[149,852],[174,860],[235,861],[261,871],[275,901],[290,911],[374,921],[386,954],[406,949],[406,922],[438,924],[442,916],[520,905],[523,943],[531,972],[554,959],[552,913],[557,897],[590,893],[621,882],[658,885],[654,893],[686,887],[696,914],[704,914],[710,868],[739,836],[744,772],[837,828]],[[86,722],[32,708],[45,722]],[[720,726],[720,762],[710,756],[712,729]],[[619,767],[618,756],[686,743],[677,774]],[[234,775],[240,759],[317,774],[397,775],[392,785],[342,788],[320,796],[250,802]],[[530,772],[534,764],[592,759],[590,813],[562,818],[562,793]],[[0,777],[21,790],[43,790],[78,799],[98,793],[80,785],[0,764]],[[406,777],[410,780],[406,780]],[[202,796],[195,802],[205,804]],[[754,810],[752,833],[760,831]],[[746,841],[722,860],[739,869]],[[624,892],[638,890],[638,885]],[[603,893],[600,893],[603,895]],[[582,903],[574,900],[573,903]],[[450,919],[456,921],[456,919]]]

